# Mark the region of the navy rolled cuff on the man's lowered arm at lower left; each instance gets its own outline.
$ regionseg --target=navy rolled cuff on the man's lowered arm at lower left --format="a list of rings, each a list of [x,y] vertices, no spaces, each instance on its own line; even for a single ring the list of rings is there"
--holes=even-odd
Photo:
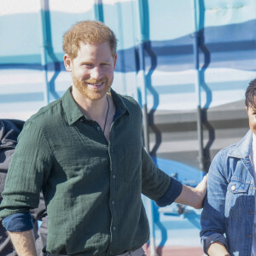
[[[3,218],[3,226],[9,232],[23,232],[33,229],[30,212],[15,213]]]

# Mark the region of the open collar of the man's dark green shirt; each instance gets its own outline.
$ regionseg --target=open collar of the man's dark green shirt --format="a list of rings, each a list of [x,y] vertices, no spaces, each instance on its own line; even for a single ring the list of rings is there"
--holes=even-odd
[[[73,125],[79,119],[84,118],[84,114],[81,112],[78,104],[73,99],[71,90],[72,86],[69,87],[62,96],[63,108],[67,115],[68,125]],[[110,90],[110,93],[116,108],[114,119],[122,114],[125,114],[126,112],[130,114],[129,109],[126,107],[123,99],[113,89]]]

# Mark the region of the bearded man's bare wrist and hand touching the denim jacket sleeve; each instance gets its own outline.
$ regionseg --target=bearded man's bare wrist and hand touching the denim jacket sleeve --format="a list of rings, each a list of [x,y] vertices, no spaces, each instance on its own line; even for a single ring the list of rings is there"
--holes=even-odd
[[[177,197],[176,202],[183,205],[200,209],[203,207],[203,200],[207,194],[208,174],[203,177],[201,183],[195,188],[183,185],[182,193]]]

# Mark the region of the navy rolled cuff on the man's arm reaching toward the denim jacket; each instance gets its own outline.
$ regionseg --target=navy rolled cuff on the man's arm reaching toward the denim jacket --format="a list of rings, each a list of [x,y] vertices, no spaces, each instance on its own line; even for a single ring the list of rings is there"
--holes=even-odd
[[[177,181],[176,178],[171,177],[171,183],[166,193],[160,197],[156,202],[159,207],[166,207],[171,205],[177,197],[181,194],[183,184]]]

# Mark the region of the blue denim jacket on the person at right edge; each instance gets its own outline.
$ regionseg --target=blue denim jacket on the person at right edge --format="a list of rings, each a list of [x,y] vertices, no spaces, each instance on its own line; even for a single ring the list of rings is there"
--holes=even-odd
[[[251,256],[255,209],[253,164],[250,157],[253,132],[224,148],[212,160],[207,196],[201,213],[204,252],[214,241],[230,255]]]

